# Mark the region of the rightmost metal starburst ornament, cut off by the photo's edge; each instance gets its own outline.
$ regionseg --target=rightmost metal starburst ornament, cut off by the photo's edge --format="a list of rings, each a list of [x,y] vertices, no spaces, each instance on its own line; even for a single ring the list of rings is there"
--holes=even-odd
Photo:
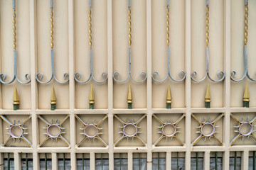
[[[232,146],[235,143],[235,141],[237,141],[240,137],[241,140],[244,140],[245,137],[247,138],[247,140],[249,139],[249,137],[252,137],[253,139],[256,140],[255,135],[252,134],[252,132],[256,131],[253,130],[253,128],[255,127],[253,123],[255,123],[256,117],[252,120],[249,120],[249,118],[243,120],[242,118],[242,121],[239,121],[237,118],[235,118],[233,114],[231,114],[231,117],[238,123],[237,126],[234,126],[235,128],[238,128],[237,130],[234,130],[234,132],[237,132],[238,135],[234,137],[233,140],[231,140],[230,146]]]

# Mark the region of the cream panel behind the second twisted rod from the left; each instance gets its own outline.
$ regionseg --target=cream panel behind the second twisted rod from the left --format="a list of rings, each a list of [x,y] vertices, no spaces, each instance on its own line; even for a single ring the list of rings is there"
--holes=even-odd
[[[53,1],[54,24],[54,66],[55,76],[64,81],[63,74],[68,72],[68,0]],[[37,1],[37,37],[38,37],[38,72],[43,73],[42,81],[51,76],[50,61],[50,1]],[[73,75],[70,75],[73,79]],[[68,84],[58,84],[55,80],[50,84],[38,85],[38,108],[50,108],[50,93],[55,86],[57,108],[69,108]]]

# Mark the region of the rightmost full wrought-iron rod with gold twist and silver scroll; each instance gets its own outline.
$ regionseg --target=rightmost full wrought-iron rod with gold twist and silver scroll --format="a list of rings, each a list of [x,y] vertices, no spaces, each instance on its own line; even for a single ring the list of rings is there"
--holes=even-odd
[[[247,41],[248,41],[248,0],[245,0],[245,47],[244,47],[244,64],[245,64],[245,73],[243,74],[241,79],[235,79],[237,76],[237,72],[235,70],[231,71],[231,77],[230,79],[239,82],[245,79],[247,77],[251,81],[256,81],[256,79],[252,79],[249,74],[248,70],[248,50],[247,50]]]

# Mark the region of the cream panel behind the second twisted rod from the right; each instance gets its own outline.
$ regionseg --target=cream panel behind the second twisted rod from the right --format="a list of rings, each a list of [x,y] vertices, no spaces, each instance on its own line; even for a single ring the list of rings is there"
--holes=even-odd
[[[224,71],[223,1],[210,1],[209,8],[210,77],[218,80],[217,73]],[[206,1],[201,0],[191,1],[191,71],[193,70],[198,72],[198,80],[206,74]],[[223,83],[213,83],[208,78],[201,83],[192,82],[192,107],[205,107],[204,97],[208,83],[211,107],[223,107]]]

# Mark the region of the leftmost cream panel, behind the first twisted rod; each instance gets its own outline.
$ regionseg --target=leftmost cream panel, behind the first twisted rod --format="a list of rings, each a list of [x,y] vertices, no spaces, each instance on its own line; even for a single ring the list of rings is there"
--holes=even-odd
[[[14,77],[14,48],[13,48],[13,8],[12,1],[0,1],[1,8],[1,73],[7,75],[6,82]],[[17,74],[23,82],[26,74],[30,74],[30,43],[29,43],[29,1],[16,2],[16,50]],[[30,77],[28,77],[30,79]],[[31,108],[30,85],[19,84],[16,80],[9,85],[2,85],[2,108],[13,108],[14,86],[17,86],[20,97],[20,108]]]

